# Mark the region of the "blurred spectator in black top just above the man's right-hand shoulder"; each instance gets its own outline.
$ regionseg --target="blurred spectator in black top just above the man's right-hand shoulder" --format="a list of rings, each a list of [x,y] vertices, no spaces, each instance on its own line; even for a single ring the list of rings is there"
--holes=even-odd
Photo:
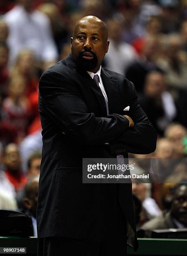
[[[144,90],[146,75],[154,70],[160,71],[155,64],[158,50],[158,39],[155,37],[146,38],[142,47],[140,60],[134,61],[127,67],[126,77],[134,83],[138,93],[142,93]]]

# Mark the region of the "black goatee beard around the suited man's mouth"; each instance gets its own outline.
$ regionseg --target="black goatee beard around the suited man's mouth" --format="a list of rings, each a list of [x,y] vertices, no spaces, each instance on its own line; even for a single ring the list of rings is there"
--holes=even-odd
[[[93,59],[84,59],[83,54],[85,52],[90,52],[93,55]],[[96,54],[89,49],[80,51],[78,58],[75,60],[78,69],[81,69],[82,71],[90,71],[92,69],[95,69],[95,67],[97,66],[97,61],[98,59]]]

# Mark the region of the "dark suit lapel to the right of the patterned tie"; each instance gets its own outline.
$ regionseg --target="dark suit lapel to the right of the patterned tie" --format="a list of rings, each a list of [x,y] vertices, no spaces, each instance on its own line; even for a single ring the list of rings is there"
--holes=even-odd
[[[109,114],[117,113],[120,104],[119,82],[116,79],[113,79],[105,69],[101,69],[101,78],[107,94]]]

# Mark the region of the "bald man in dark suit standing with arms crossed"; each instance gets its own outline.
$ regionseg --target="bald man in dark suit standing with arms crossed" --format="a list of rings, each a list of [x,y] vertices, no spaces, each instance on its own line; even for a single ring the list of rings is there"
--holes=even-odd
[[[125,255],[127,243],[137,249],[131,184],[82,183],[83,158],[122,159],[156,146],[133,84],[101,68],[108,47],[102,20],[84,17],[71,54],[40,79],[39,256]]]

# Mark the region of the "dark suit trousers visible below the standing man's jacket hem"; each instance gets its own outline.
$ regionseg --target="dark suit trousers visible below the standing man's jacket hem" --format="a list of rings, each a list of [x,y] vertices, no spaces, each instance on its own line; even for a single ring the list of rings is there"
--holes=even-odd
[[[37,256],[124,256],[126,241],[82,241],[72,238],[38,239]]]

